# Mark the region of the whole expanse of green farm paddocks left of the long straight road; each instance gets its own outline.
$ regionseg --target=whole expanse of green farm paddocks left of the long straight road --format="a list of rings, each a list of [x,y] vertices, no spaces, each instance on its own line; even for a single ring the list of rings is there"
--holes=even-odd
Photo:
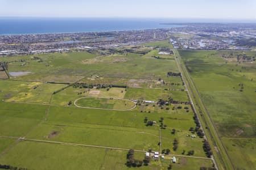
[[[133,53],[120,50],[104,56],[72,52],[2,57],[9,72],[31,73],[0,80],[0,164],[28,169],[138,169],[126,167],[127,150],[138,150],[135,158],[143,160],[149,149],[171,149],[177,138],[178,150],[171,153],[180,155],[180,162],[174,167],[209,167],[212,160],[204,159],[201,138],[186,137],[195,127],[191,105],[159,107],[142,102],[134,107],[130,100],[188,101],[181,77],[167,76],[179,73],[174,56],[152,48],[172,48],[169,42],[146,46],[151,48],[128,47]],[[154,125],[147,125],[150,121]],[[200,158],[181,154],[192,149]],[[167,169],[170,162],[152,159],[139,169]]]

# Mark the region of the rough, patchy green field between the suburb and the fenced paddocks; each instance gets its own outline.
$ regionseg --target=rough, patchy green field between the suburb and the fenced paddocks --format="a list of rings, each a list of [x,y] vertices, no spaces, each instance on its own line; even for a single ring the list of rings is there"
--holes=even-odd
[[[28,60],[26,65],[10,63],[9,71],[30,71],[34,74],[19,76],[16,80],[72,82],[97,74],[104,78],[153,79],[166,76],[168,71],[177,72],[175,61],[142,58],[142,54],[128,53],[112,56],[95,56],[87,52],[53,53],[39,55],[42,62]],[[32,56],[31,56],[32,57]],[[13,57],[15,59],[16,57]],[[19,58],[19,57],[17,57]],[[6,60],[6,59],[4,59]],[[158,62],[155,62],[155,61]],[[56,76],[59,77],[59,80]],[[70,76],[70,78],[69,78]],[[65,79],[64,79],[65,78]]]

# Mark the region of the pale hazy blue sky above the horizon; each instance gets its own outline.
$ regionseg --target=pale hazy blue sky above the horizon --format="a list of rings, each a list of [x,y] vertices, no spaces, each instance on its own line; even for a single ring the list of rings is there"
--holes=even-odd
[[[0,0],[0,16],[256,19],[256,0]]]

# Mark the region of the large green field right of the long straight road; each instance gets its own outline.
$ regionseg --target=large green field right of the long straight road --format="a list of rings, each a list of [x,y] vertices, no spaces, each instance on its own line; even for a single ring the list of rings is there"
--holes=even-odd
[[[247,141],[254,138],[256,133],[253,114],[256,109],[255,62],[237,62],[223,57],[236,58],[240,54],[255,55],[241,51],[180,50],[234,167],[250,169],[256,165],[255,159],[250,156],[251,152],[243,150],[240,145],[231,150],[232,141],[226,138],[243,137]],[[241,151],[243,160],[240,164],[237,158]]]

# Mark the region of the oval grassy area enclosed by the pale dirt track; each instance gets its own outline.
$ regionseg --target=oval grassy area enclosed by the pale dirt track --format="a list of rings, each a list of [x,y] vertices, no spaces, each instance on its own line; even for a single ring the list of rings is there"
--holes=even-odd
[[[92,92],[92,91],[90,91]],[[127,110],[134,107],[133,101],[84,97],[76,100],[78,107]]]

